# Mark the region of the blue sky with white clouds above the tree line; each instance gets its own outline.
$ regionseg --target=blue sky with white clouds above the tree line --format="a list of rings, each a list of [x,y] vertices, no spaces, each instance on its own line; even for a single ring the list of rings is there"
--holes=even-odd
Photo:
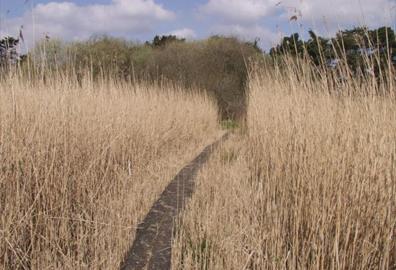
[[[82,40],[108,34],[143,42],[156,34],[222,34],[260,38],[267,49],[292,32],[329,35],[395,24],[396,0],[0,0],[0,35],[18,35],[23,26],[27,46],[46,35]]]

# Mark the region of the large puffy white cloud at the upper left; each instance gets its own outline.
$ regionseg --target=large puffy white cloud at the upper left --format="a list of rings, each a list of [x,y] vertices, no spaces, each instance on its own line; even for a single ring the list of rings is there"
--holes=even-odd
[[[15,35],[23,25],[25,39],[31,44],[45,34],[66,40],[105,33],[130,36],[148,32],[156,24],[174,17],[173,12],[154,0],[113,0],[107,5],[85,6],[72,2],[50,2],[38,4],[21,17],[9,19],[6,29]]]

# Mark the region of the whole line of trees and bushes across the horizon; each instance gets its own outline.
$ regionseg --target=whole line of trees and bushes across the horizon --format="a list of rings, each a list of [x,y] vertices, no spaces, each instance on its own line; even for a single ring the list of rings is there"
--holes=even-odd
[[[46,38],[26,55],[18,53],[20,39],[0,39],[0,67],[18,66],[29,79],[69,72],[77,80],[117,78],[129,81],[167,80],[185,89],[205,89],[218,102],[223,118],[245,114],[249,62],[275,63],[285,55],[307,59],[320,68],[334,70],[347,66],[352,73],[378,76],[396,66],[396,39],[390,27],[366,27],[339,31],[326,38],[309,31],[309,39],[298,33],[284,37],[268,53],[258,40],[212,36],[186,41],[173,35],[155,36],[145,43],[96,36],[86,41],[63,42]],[[370,61],[368,61],[370,60]],[[5,72],[1,72],[4,74]]]

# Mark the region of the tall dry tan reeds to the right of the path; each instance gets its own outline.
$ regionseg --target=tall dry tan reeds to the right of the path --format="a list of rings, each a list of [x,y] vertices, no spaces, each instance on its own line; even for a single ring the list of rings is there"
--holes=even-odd
[[[201,171],[173,269],[396,268],[395,99],[311,74],[252,76],[247,131]]]

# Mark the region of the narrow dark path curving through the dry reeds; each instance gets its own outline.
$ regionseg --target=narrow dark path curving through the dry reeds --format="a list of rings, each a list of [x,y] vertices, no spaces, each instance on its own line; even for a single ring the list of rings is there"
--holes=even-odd
[[[207,146],[173,178],[138,226],[135,240],[121,270],[170,269],[174,220],[194,192],[198,170],[218,144],[227,138],[228,133],[225,133],[219,140]]]

